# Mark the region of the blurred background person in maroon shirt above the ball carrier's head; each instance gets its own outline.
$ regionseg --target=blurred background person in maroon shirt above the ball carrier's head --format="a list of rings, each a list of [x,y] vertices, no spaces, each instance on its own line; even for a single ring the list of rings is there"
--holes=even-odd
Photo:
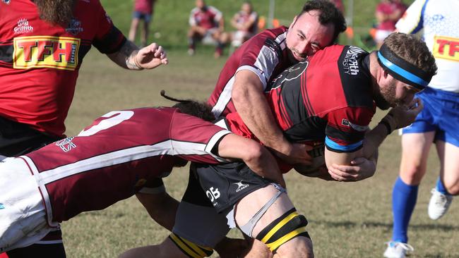
[[[384,39],[395,30],[395,23],[405,13],[406,6],[401,0],[381,0],[376,6],[376,47],[381,47]]]

